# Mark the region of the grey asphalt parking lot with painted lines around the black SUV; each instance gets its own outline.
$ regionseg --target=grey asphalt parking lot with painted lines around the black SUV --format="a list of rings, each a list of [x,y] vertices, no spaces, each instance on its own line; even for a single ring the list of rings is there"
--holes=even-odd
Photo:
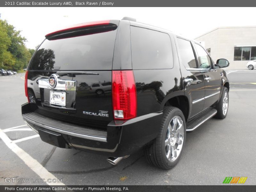
[[[169,171],[148,164],[142,150],[113,166],[107,156],[44,143],[21,117],[24,73],[0,76],[0,184],[17,184],[5,182],[12,177],[59,179],[65,185],[221,185],[225,177],[248,177],[244,185],[255,185],[256,70],[227,73],[228,116],[187,133],[181,160]]]

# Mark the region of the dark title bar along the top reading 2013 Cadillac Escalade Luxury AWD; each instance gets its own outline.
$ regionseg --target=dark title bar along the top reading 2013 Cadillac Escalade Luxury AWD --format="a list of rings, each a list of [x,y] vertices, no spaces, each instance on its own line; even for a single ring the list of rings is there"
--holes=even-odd
[[[255,7],[252,0],[1,0],[0,7]],[[202,10],[202,14],[204,10]],[[214,14],[214,13],[213,13]],[[215,14],[219,14],[216,8]],[[205,15],[207,16],[207,15]],[[225,13],[223,13],[225,17]]]

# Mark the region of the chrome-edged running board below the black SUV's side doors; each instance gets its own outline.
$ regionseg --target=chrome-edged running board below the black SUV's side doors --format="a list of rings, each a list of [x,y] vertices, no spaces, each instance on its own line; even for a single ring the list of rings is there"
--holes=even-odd
[[[217,110],[212,108],[210,111],[208,111],[207,113],[199,116],[199,118],[197,118],[196,121],[188,121],[187,124],[187,129],[186,131],[194,131],[197,127],[199,127],[201,124],[203,124],[205,121],[207,121],[208,119],[212,118],[213,116],[215,116],[215,114],[217,113]]]

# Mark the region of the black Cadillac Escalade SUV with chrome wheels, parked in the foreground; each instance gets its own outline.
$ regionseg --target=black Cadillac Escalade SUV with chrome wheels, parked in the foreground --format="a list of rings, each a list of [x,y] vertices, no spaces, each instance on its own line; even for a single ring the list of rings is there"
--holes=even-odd
[[[149,163],[170,169],[187,131],[226,117],[228,65],[193,40],[131,18],[74,25],[47,34],[32,56],[22,117],[60,148],[117,164],[143,147]]]

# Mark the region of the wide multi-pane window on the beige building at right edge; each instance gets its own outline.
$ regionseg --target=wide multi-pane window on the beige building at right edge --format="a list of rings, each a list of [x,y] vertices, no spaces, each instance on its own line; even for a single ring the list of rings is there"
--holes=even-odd
[[[235,47],[234,61],[250,61],[256,60],[256,46],[255,47]]]

